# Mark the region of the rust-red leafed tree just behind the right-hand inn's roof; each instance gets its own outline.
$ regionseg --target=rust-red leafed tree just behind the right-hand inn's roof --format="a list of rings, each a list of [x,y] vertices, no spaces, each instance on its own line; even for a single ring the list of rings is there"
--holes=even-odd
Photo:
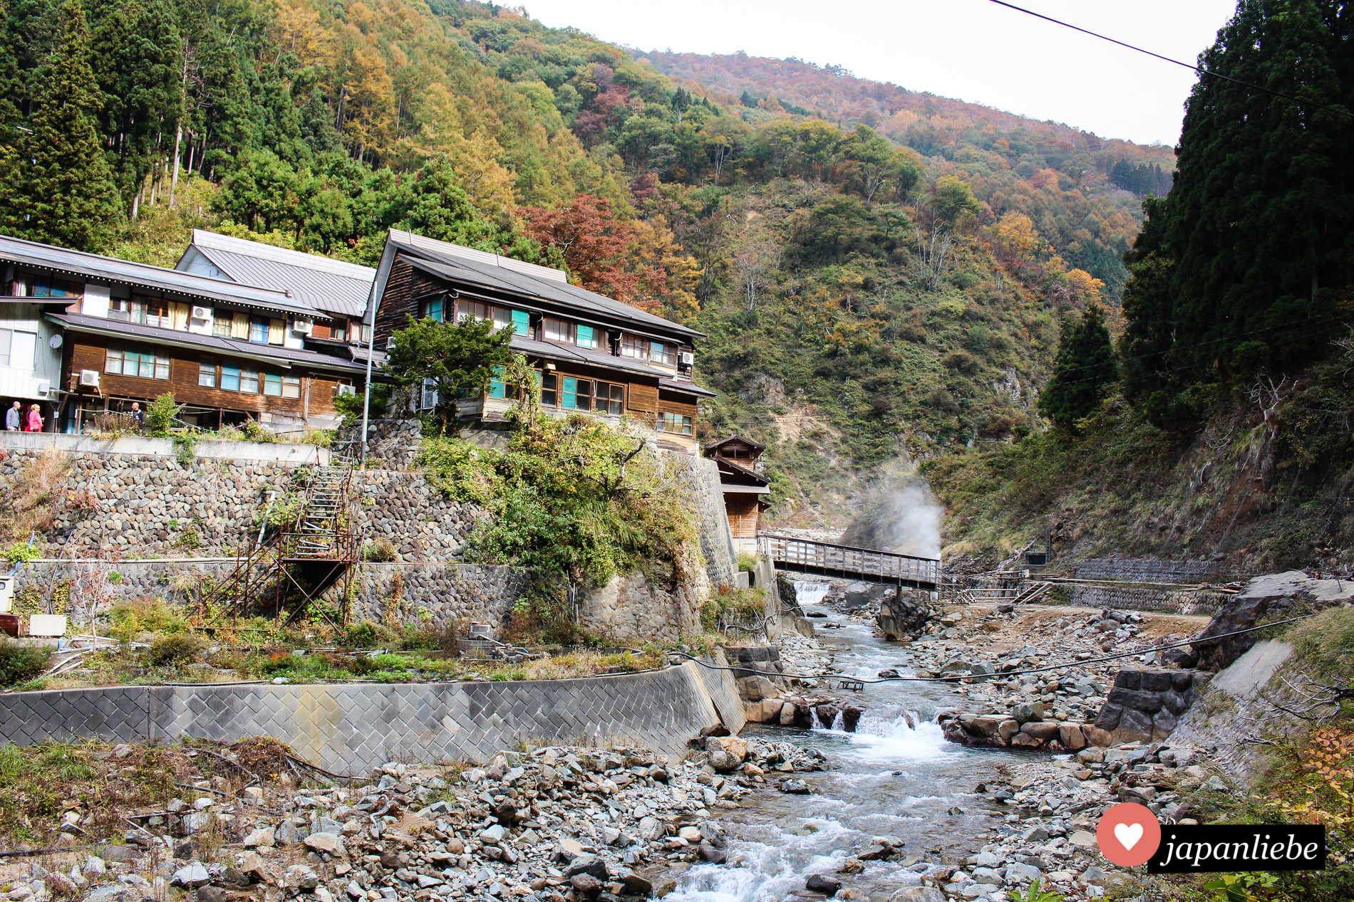
[[[525,219],[528,235],[544,247],[559,249],[580,285],[632,302],[639,276],[626,272],[626,257],[635,227],[616,218],[609,200],[578,195],[565,207],[523,207],[517,214]]]

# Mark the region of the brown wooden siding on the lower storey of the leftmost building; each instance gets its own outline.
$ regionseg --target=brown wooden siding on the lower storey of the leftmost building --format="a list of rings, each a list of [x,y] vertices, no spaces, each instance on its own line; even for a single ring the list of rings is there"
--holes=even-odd
[[[213,407],[223,410],[237,410],[248,412],[286,414],[291,417],[324,417],[334,412],[334,392],[338,388],[338,377],[330,373],[311,373],[303,368],[292,366],[282,369],[268,366],[257,361],[242,361],[215,354],[196,354],[191,350],[171,348],[165,349],[169,357],[169,379],[142,379],[139,376],[118,376],[104,372],[107,345],[123,345],[137,350],[149,349],[148,342],[123,342],[121,339],[103,339],[92,335],[68,334],[69,368],[66,371],[66,388],[74,392],[80,403],[88,404],[99,400],[99,392],[89,388],[80,388],[80,371],[99,371],[99,383],[104,396],[138,398],[150,400],[164,392],[173,392],[175,400],[180,404],[195,407]],[[200,358],[215,360],[218,364],[238,364],[252,366],[259,371],[259,394],[225,391],[222,388],[204,388],[198,384],[198,364]],[[286,376],[301,377],[301,398],[278,398],[263,394],[263,373],[280,372]],[[353,384],[356,380],[347,380]],[[309,404],[306,392],[309,389]]]

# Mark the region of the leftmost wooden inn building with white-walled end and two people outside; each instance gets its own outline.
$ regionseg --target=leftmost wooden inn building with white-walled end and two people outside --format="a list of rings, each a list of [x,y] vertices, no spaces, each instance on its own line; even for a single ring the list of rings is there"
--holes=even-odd
[[[0,364],[0,400],[27,402],[35,385],[47,431],[80,431],[93,414],[165,392],[184,422],[209,429],[330,427],[334,396],[359,391],[366,373],[355,349],[310,339],[348,318],[284,281],[257,287],[7,237],[0,266],[0,350],[23,337],[22,353],[3,358],[14,365]]]

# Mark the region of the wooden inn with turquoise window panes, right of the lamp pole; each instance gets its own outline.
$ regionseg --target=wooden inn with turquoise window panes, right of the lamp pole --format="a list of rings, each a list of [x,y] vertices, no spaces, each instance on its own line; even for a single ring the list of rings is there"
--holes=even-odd
[[[588,411],[650,423],[661,448],[697,453],[696,403],[714,392],[692,383],[693,329],[570,285],[565,273],[391,230],[376,270],[375,348],[410,319],[471,315],[512,329],[512,349],[542,373],[548,412]],[[431,392],[422,399],[432,407]],[[460,415],[502,422],[512,402],[501,383],[462,403]]]

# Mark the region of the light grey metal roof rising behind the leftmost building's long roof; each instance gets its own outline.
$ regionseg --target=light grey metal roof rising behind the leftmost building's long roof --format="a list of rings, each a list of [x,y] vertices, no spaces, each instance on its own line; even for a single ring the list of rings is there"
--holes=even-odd
[[[190,250],[192,249],[237,283],[288,289],[292,298],[340,316],[362,316],[367,312],[371,283],[376,277],[376,270],[371,266],[202,229],[192,230]],[[179,268],[184,268],[187,260],[188,252],[184,252]]]

